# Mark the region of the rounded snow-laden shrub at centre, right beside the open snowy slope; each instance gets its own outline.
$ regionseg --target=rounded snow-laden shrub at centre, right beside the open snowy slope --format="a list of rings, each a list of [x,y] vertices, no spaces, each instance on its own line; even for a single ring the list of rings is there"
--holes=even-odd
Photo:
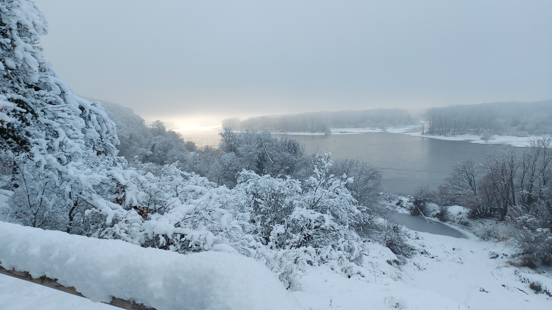
[[[362,263],[362,241],[353,226],[363,214],[346,188],[353,179],[328,174],[330,156],[314,157],[313,176],[305,184],[242,171],[231,190],[237,208],[250,214],[250,232],[263,247],[257,253],[275,271],[286,274],[301,265],[334,261],[334,269],[348,274]]]

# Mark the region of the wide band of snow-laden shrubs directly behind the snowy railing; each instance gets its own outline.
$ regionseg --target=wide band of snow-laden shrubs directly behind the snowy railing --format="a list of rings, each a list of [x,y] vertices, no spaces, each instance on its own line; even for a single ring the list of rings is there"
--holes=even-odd
[[[327,157],[320,161],[331,164]],[[139,195],[146,197],[140,200],[142,204],[113,197],[123,200],[128,211],[116,224],[98,227],[94,236],[180,253],[239,252],[284,274],[300,270],[301,265],[333,260],[338,262],[339,272],[347,274],[362,262],[360,237],[349,225],[338,222],[354,222],[362,215],[356,206],[343,203],[354,202],[344,187],[352,180],[337,182],[332,176],[321,181],[325,172],[319,171],[314,177],[319,186],[310,184],[303,189],[299,181],[290,178],[242,171],[241,183],[227,189],[176,166],[167,166],[158,177],[144,176],[157,183],[154,191]],[[315,208],[313,197],[317,198]]]

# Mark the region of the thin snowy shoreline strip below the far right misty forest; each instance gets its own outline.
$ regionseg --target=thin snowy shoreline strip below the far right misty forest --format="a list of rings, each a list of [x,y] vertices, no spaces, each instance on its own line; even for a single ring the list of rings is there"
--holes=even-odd
[[[453,141],[463,141],[469,140],[470,143],[476,144],[496,144],[496,145],[507,145],[507,146],[516,146],[518,148],[527,148],[531,140],[542,139],[542,136],[529,135],[528,137],[516,137],[514,135],[498,135],[495,134],[490,140],[481,140],[481,136],[477,134],[458,134],[458,135],[432,135],[424,134],[422,132],[413,132],[413,133],[404,133],[412,135],[413,137],[424,137],[424,138],[433,138],[440,140],[453,140]]]

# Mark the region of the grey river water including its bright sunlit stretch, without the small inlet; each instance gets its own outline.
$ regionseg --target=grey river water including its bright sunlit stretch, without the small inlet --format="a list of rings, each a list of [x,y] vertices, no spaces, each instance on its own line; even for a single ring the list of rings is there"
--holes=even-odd
[[[220,139],[219,130],[210,127],[178,131],[185,140],[192,140],[198,146],[216,147]],[[387,191],[394,194],[411,194],[420,185],[437,189],[457,162],[471,157],[479,164],[487,151],[503,147],[389,132],[293,137],[305,144],[306,153],[331,150],[334,160],[358,157],[380,167]]]

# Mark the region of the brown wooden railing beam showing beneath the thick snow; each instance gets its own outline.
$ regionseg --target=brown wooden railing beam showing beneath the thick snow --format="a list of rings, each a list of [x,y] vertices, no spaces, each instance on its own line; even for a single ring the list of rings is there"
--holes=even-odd
[[[63,285],[59,284],[59,282],[57,282],[57,279],[51,279],[51,278],[48,278],[45,275],[41,276],[40,278],[33,278],[33,276],[31,276],[27,271],[7,270],[6,268],[2,267],[1,265],[0,265],[0,274],[13,276],[14,278],[17,278],[17,279],[22,279],[22,280],[25,280],[25,281],[29,281],[29,282],[33,282],[33,283],[36,283],[36,284],[44,285],[44,286],[47,286],[47,287],[51,287],[52,289],[60,290],[60,291],[66,292],[66,293],[70,293],[70,294],[73,294],[73,295],[77,295],[77,296],[81,296],[81,297],[86,298],[86,296],[84,296],[81,293],[77,292],[75,287],[63,286]],[[103,302],[103,303],[110,304],[112,306],[127,309],[127,310],[156,310],[155,308],[148,308],[148,307],[144,306],[144,304],[141,304],[141,303],[135,303],[134,301],[123,300],[121,298],[115,298],[115,297],[112,297],[111,302]]]

